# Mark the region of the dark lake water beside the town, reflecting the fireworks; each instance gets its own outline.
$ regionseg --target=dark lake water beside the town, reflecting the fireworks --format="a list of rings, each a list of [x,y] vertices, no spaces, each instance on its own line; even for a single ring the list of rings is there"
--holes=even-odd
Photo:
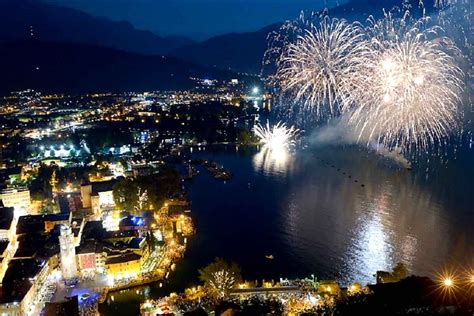
[[[222,257],[245,279],[305,277],[342,284],[375,282],[403,261],[417,275],[472,267],[474,150],[408,171],[353,146],[319,147],[274,159],[256,148],[194,149],[234,177],[204,169],[188,189],[197,234],[163,288],[114,293],[106,315],[138,312],[145,298],[198,284],[197,270]],[[266,259],[266,255],[274,259]],[[112,298],[113,296],[113,298]]]

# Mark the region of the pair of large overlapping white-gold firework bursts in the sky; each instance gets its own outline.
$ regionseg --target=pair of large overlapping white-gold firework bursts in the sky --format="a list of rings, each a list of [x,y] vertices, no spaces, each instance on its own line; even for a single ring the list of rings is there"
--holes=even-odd
[[[344,114],[359,141],[404,153],[443,143],[462,121],[461,54],[409,7],[366,28],[327,16],[285,23],[264,57],[276,66],[280,112],[303,123]]]

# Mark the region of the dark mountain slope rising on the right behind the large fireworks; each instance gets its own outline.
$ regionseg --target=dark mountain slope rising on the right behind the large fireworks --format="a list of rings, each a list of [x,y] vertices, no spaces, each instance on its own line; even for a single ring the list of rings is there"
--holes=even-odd
[[[419,0],[409,0],[413,11],[419,15]],[[429,2],[427,11],[433,9],[434,0]],[[402,0],[351,0],[343,5],[329,9],[331,17],[350,21],[365,21],[369,15],[383,16],[383,8],[401,6]],[[296,17],[295,17],[296,18]],[[230,69],[236,72],[259,74],[262,57],[267,49],[267,36],[283,23],[276,23],[256,32],[231,33],[212,37],[204,42],[193,43],[172,51],[170,54],[195,63]]]

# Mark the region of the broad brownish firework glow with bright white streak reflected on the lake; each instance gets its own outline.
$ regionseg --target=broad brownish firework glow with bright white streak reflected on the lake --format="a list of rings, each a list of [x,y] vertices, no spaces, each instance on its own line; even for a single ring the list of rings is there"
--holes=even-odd
[[[292,255],[332,271],[325,277],[366,283],[399,261],[424,275],[446,262],[453,226],[436,195],[412,174],[366,158],[297,165],[282,229]]]

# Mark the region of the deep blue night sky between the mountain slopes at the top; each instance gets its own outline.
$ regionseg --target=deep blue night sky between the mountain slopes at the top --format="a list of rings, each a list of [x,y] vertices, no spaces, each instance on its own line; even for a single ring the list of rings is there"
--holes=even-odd
[[[346,0],[45,0],[95,16],[126,20],[160,35],[204,39],[257,30]]]

